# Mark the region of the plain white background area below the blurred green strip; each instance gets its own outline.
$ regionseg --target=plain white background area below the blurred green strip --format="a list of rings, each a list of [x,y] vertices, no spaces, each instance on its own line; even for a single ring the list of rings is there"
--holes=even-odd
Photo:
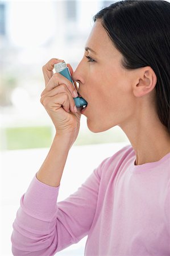
[[[128,143],[73,146],[69,151],[60,184],[59,201],[75,192],[99,163]],[[11,233],[20,197],[38,172],[48,148],[2,152],[2,245],[0,255],[10,256]],[[84,255],[86,238],[57,255]]]

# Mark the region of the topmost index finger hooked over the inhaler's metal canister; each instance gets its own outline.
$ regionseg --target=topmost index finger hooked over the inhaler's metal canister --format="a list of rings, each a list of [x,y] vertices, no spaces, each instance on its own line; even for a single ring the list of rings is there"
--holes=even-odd
[[[44,75],[44,80],[45,80],[45,86],[47,86],[49,80],[51,79],[51,77],[53,76],[53,68],[54,68],[54,64],[59,63],[63,60],[60,59],[51,59],[49,60],[44,66],[43,66],[43,75]]]

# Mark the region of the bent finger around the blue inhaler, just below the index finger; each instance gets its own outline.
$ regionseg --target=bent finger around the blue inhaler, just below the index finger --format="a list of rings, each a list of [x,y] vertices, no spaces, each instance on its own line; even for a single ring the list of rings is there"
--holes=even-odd
[[[71,92],[72,94],[72,97],[77,97],[78,94],[75,94],[77,93],[72,82],[69,81],[66,77],[64,77],[63,75],[61,75],[60,73],[55,73],[51,79],[49,80],[46,88],[43,90],[41,96],[43,96],[44,93],[46,92],[49,92],[50,90],[52,90],[53,88],[61,85],[61,84],[64,84],[67,86],[68,90]]]

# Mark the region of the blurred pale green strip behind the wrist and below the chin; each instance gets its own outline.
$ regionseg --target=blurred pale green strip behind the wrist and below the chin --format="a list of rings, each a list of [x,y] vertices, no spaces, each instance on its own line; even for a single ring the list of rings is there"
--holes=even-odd
[[[7,150],[50,147],[53,141],[51,126],[8,127],[3,131],[3,135]],[[89,130],[80,131],[74,145],[125,141],[128,141],[126,135],[114,127],[102,133],[92,133]]]

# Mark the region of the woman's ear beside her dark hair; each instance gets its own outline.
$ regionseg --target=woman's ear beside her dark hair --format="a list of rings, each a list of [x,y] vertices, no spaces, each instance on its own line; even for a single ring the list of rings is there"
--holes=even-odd
[[[155,88],[157,77],[151,67],[139,68],[137,79],[134,84],[134,95],[142,97]]]

